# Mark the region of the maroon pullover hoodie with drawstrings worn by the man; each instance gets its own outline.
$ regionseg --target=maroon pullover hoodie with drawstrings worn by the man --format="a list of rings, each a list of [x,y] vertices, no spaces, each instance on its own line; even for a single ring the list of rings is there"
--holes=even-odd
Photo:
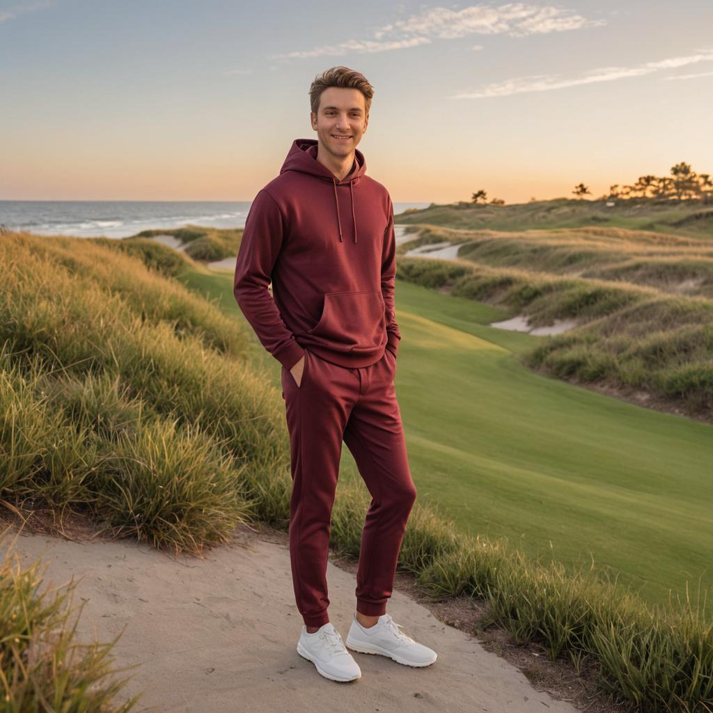
[[[339,366],[396,356],[394,206],[355,150],[342,180],[295,139],[250,205],[235,265],[237,304],[262,346],[291,369],[309,349]],[[272,282],[272,297],[267,289]]]

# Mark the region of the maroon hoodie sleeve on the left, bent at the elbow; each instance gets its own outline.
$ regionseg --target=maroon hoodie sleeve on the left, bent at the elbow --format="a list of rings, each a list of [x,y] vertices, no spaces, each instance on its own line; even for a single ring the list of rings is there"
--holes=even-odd
[[[292,369],[302,358],[304,349],[282,321],[277,304],[267,289],[284,237],[282,211],[263,188],[252,201],[245,219],[233,294],[262,346],[283,366]]]

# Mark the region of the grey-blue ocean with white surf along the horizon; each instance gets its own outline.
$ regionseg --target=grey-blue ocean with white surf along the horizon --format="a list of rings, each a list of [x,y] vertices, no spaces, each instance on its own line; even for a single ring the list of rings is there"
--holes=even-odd
[[[244,227],[250,201],[0,200],[0,226],[39,235],[128,237],[148,228]],[[394,202],[394,214],[429,203]]]

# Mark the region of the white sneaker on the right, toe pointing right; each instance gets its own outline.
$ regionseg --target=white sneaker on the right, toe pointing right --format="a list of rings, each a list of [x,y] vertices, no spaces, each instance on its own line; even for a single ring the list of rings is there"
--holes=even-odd
[[[363,627],[354,614],[347,646],[362,654],[388,656],[406,666],[430,666],[438,657],[436,652],[406,636],[400,627],[389,614],[382,614],[374,626]]]

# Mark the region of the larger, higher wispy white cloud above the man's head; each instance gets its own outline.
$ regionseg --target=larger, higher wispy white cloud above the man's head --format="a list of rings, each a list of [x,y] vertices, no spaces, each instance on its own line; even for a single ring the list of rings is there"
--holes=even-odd
[[[462,10],[436,7],[406,19],[377,27],[372,39],[350,39],[309,50],[274,55],[275,58],[304,58],[344,55],[352,52],[384,52],[404,49],[434,40],[453,40],[472,34],[523,37],[595,27],[604,20],[590,20],[573,10],[532,3],[507,3],[499,7],[473,5]]]

